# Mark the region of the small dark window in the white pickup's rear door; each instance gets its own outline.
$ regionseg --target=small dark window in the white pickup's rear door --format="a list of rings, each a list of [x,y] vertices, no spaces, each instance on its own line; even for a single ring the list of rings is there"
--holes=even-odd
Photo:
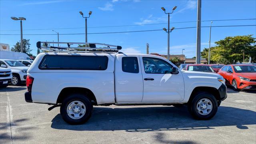
[[[123,72],[139,73],[139,64],[137,57],[123,57],[122,58]]]

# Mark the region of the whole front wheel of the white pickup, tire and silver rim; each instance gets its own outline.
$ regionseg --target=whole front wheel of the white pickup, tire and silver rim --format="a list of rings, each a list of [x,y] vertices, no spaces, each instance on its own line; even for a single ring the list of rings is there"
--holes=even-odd
[[[212,94],[200,92],[190,102],[188,110],[198,120],[209,120],[216,114],[218,102]]]

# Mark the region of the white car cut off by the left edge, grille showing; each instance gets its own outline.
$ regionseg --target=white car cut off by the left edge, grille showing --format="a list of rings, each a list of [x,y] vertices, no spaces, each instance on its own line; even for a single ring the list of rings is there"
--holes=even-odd
[[[3,64],[0,67],[0,88],[5,88],[12,81],[12,70],[6,67]]]

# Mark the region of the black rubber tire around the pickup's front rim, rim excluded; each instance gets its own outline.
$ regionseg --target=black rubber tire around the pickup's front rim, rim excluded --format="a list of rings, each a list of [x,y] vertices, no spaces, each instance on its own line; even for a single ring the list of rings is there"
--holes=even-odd
[[[200,114],[200,112],[198,112],[197,110],[197,104],[202,99],[208,99],[212,103],[211,104],[212,110],[206,115]],[[218,110],[218,102],[216,98],[208,92],[197,93],[196,96],[193,98],[193,100],[188,104],[188,111],[197,120],[210,120],[216,114],[217,110]]]

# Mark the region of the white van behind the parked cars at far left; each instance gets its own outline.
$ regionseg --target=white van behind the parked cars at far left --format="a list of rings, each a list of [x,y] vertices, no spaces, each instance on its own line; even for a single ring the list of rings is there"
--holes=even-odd
[[[22,52],[10,52],[10,51],[0,51],[0,59],[8,60],[31,60],[31,58]]]

